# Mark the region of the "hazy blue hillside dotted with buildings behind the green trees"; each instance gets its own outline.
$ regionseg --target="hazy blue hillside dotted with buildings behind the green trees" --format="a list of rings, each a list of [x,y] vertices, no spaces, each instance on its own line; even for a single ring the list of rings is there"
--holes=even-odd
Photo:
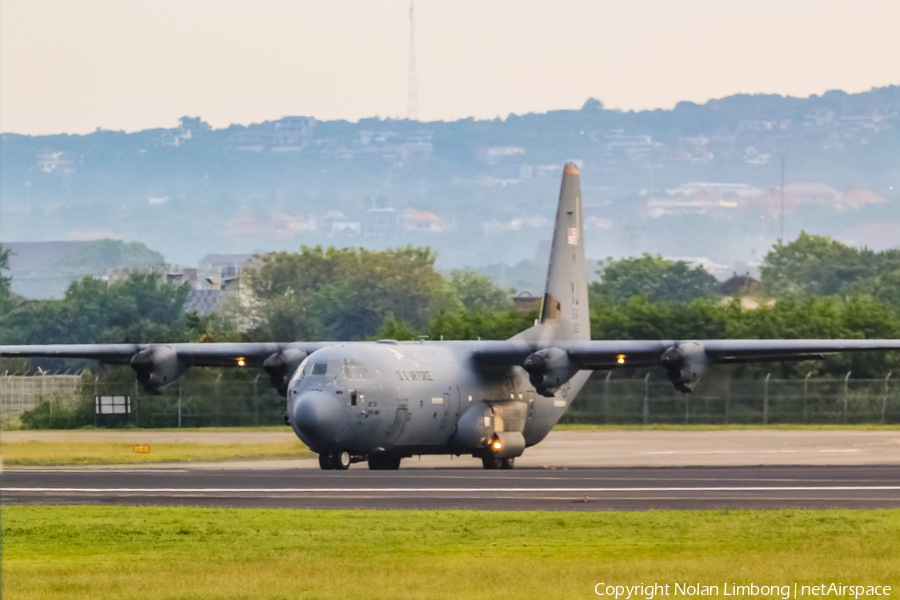
[[[0,135],[0,239],[84,231],[173,262],[300,245],[430,245],[438,266],[516,265],[550,235],[562,164],[582,167],[594,258],[758,262],[785,237],[900,220],[900,86],[735,95],[672,110],[419,123],[285,117],[210,129]],[[87,260],[87,259],[85,259]]]

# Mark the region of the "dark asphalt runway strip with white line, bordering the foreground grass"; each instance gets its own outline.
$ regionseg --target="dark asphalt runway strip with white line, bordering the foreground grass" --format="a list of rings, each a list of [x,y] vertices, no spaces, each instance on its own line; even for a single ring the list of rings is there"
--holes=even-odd
[[[2,474],[2,502],[316,509],[900,508],[900,466],[48,470]]]

